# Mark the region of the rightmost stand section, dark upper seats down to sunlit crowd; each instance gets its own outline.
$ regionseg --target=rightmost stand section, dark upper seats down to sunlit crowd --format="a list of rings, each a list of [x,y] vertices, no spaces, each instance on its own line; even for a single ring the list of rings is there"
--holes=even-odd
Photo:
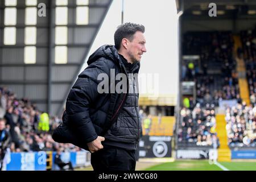
[[[233,147],[255,147],[256,142],[256,36],[254,30],[241,31],[241,46],[237,48],[237,56],[244,61],[243,67],[246,78],[241,82],[248,85],[245,90],[245,98],[250,98],[250,103],[243,102],[226,109],[226,131],[228,133],[228,143]],[[243,70],[242,70],[243,71]],[[241,84],[240,84],[241,85]]]

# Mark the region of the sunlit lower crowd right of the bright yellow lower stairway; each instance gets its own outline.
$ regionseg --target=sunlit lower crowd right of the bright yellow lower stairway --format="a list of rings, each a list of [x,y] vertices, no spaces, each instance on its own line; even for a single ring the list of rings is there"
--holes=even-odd
[[[246,106],[243,102],[228,107],[225,119],[229,146],[256,146],[256,106]]]

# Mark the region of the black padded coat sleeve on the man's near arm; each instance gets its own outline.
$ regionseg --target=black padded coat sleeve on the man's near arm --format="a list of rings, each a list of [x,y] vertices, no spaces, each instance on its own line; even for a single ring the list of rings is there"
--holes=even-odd
[[[97,133],[89,116],[89,107],[97,100],[97,77],[100,73],[108,72],[105,61],[96,61],[89,65],[77,78],[75,85],[68,94],[66,110],[68,121],[77,130],[79,137],[86,143],[96,139]]]

